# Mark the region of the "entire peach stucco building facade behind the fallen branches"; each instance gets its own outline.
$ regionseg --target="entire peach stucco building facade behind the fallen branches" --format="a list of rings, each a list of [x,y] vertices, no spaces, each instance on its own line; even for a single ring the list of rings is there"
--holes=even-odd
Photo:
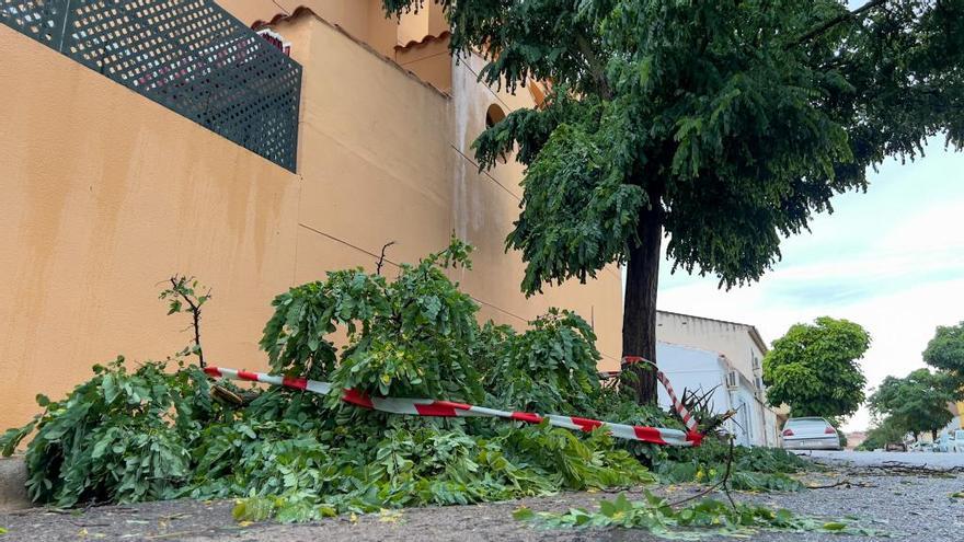
[[[85,36],[95,41],[71,50],[57,47],[46,28],[72,25],[23,23],[0,7],[0,100],[10,104],[0,131],[0,427],[24,423],[37,411],[38,391],[60,397],[90,377],[93,364],[180,350],[190,341],[185,322],[165,316],[157,299],[173,274],[213,288],[203,322],[206,358],[260,370],[267,364],[257,342],[274,296],[330,269],[374,270],[382,245],[394,241],[391,273],[446,246],[452,232],[477,246],[473,269],[452,278],[478,301],[480,318],[524,326],[551,305],[573,309],[594,324],[600,368],[618,367],[618,268],[586,285],[523,296],[524,263],[504,250],[523,169],[507,160],[480,172],[472,158],[471,142],[486,123],[532,106],[539,89],[509,94],[480,84],[480,59],[455,62],[448,55],[437,7],[395,21],[385,19],[378,0],[301,4],[278,13],[272,0],[220,2],[251,36],[250,26],[269,31],[266,38],[298,65],[290,162],[264,158],[274,148],[249,150],[243,130],[266,131],[257,107],[220,111],[229,128],[205,120],[218,105],[213,99],[196,115],[172,108],[179,93],[217,95],[205,84],[277,82],[234,45],[202,44],[207,48],[194,64],[165,65],[173,53],[158,47],[180,47],[191,36],[158,33],[198,24],[182,11],[108,23],[91,18]],[[220,9],[210,0],[191,5],[203,18]],[[110,39],[94,32],[125,20],[163,24],[122,28]],[[231,36],[253,39],[240,31]],[[148,57],[147,71],[133,80],[113,71]],[[219,81],[195,77],[215,65]],[[151,99],[142,90],[149,84],[158,94]]]

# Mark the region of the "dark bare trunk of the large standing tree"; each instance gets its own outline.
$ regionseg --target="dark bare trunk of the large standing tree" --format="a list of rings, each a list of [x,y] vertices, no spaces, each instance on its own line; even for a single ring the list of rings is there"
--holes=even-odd
[[[626,300],[622,313],[622,355],[656,362],[656,286],[659,278],[659,245],[663,226],[658,204],[643,210],[636,233],[640,245],[630,249],[626,270]],[[647,364],[635,364],[632,383],[640,404],[656,403],[656,371]]]

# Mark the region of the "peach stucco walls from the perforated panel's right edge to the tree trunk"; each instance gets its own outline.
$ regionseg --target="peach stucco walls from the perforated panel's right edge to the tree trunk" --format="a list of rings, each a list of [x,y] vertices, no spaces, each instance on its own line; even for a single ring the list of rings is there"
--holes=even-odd
[[[389,251],[394,264],[445,246],[455,232],[477,247],[473,269],[454,278],[482,305],[483,319],[524,326],[550,305],[576,310],[595,324],[602,367],[618,367],[619,272],[607,268],[599,280],[527,299],[519,291],[524,263],[504,246],[518,218],[523,169],[509,160],[479,172],[471,158],[489,105],[529,106],[527,90],[494,92],[463,61],[452,68],[448,96],[317,18],[277,30],[299,44],[295,57],[305,66],[299,243],[318,237],[324,241],[312,242],[351,242],[370,263],[395,241]],[[317,278],[319,265],[299,256],[298,280]]]

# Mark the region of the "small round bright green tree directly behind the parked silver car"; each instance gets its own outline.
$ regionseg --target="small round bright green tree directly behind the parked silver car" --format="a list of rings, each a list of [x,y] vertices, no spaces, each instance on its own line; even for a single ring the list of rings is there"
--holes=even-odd
[[[863,402],[867,379],[857,365],[870,347],[859,324],[829,316],[794,324],[764,357],[767,401],[790,405],[793,416],[853,414]]]

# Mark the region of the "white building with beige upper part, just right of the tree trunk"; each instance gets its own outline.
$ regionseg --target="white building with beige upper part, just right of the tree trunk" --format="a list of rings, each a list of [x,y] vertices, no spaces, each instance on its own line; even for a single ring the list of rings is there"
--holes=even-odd
[[[768,348],[755,326],[658,311],[656,338],[656,360],[677,393],[719,385],[714,407],[737,411],[731,426],[737,442],[779,446],[787,413],[766,403],[762,359]],[[661,404],[668,404],[661,393]]]

